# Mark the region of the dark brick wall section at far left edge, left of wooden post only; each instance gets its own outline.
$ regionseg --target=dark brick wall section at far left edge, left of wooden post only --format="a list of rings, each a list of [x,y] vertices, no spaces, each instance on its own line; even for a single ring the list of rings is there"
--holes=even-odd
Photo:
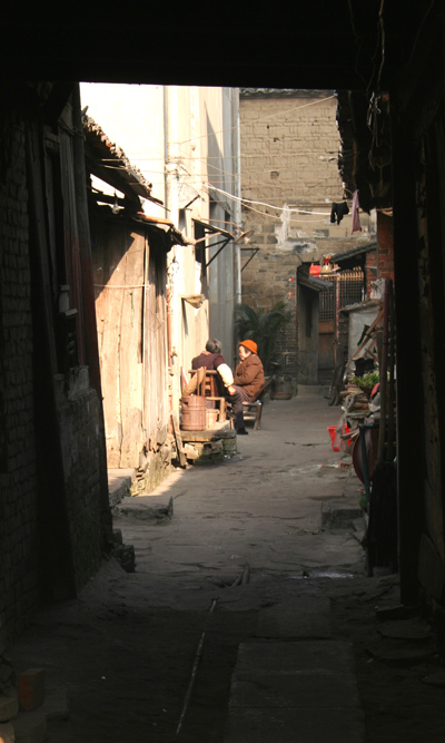
[[[11,634],[39,594],[24,126],[13,114],[0,147],[0,622]]]

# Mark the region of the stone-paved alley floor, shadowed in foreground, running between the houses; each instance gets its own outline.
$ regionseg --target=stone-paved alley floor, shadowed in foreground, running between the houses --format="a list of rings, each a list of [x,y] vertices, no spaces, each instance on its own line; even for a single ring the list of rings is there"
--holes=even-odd
[[[434,633],[376,614],[398,580],[366,576],[339,413],[313,389],[268,401],[236,457],[119,504],[136,571],[105,561],[10,653],[46,669],[50,743],[445,741]]]

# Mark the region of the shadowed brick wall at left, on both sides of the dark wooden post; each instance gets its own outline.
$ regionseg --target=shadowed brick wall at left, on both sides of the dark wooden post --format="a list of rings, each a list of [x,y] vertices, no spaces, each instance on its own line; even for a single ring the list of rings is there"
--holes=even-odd
[[[47,545],[39,521],[44,487],[38,475],[34,404],[39,389],[33,369],[34,354],[42,350],[34,348],[33,335],[27,123],[13,106],[0,117],[0,626],[11,641],[30,622],[42,598],[47,578],[41,558]],[[101,549],[99,452],[103,431],[96,392],[87,385],[68,399],[63,391],[59,417],[79,587],[97,569]],[[40,430],[44,426],[43,421]],[[50,476],[48,472],[47,482]],[[47,524],[44,534],[57,528],[57,522]]]

